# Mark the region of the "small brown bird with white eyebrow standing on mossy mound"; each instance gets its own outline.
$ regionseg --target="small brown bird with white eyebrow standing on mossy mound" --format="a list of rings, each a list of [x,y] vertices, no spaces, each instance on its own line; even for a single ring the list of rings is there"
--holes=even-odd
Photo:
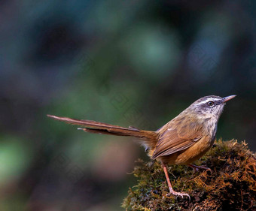
[[[234,97],[236,95],[225,98],[210,95],[200,98],[157,131],[145,131],[132,126],[123,128],[91,120],[47,116],[72,125],[81,125],[84,128],[78,129],[90,133],[138,137],[148,149],[151,159],[157,159],[163,165],[170,193],[181,197],[190,197],[188,194],[172,189],[166,165],[180,164],[194,169],[209,170],[207,167],[198,167],[191,163],[202,157],[211,148],[224,105]]]

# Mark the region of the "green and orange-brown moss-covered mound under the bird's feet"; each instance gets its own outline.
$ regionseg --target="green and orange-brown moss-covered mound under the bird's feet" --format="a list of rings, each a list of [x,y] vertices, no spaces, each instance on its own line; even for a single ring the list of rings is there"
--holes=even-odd
[[[195,173],[187,166],[169,167],[175,191],[169,195],[163,169],[158,162],[137,161],[133,173],[138,185],[123,200],[126,210],[256,210],[256,158],[245,142],[218,140],[197,165],[210,171]]]

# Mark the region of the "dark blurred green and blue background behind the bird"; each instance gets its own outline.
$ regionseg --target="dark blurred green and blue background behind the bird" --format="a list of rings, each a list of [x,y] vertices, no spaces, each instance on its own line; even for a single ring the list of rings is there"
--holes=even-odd
[[[255,143],[255,1],[2,1],[0,210],[122,210],[133,138],[50,113],[157,130],[236,94],[217,137]]]

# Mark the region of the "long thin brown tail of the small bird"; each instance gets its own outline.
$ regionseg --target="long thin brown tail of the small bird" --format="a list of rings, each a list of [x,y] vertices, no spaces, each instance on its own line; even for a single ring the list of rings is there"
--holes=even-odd
[[[79,128],[83,131],[94,134],[110,134],[117,136],[132,136],[145,140],[148,146],[154,146],[157,143],[157,133],[154,131],[144,131],[139,128],[129,127],[123,128],[117,125],[110,125],[103,122],[96,122],[84,119],[71,119],[69,117],[59,117],[47,114],[52,119],[66,122],[72,125],[81,125],[84,128]]]

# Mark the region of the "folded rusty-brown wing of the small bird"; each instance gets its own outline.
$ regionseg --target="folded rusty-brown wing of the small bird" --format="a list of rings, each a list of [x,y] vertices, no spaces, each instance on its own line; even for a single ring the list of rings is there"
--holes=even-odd
[[[159,131],[160,137],[152,156],[153,159],[187,149],[203,137],[203,124],[175,123],[176,121],[169,122]],[[182,125],[182,127],[176,127],[176,125]]]

